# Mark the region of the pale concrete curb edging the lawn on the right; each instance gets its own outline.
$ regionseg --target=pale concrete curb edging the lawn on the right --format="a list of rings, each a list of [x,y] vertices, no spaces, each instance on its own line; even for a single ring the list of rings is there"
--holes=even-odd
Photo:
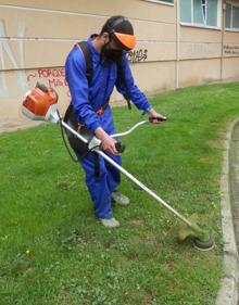
[[[224,274],[221,279],[221,289],[217,293],[216,305],[238,304],[238,282],[239,264],[238,251],[234,228],[234,216],[230,202],[230,177],[229,177],[229,151],[231,135],[239,125],[239,119],[235,120],[227,134],[224,142],[223,168],[221,177],[221,215],[224,241]]]

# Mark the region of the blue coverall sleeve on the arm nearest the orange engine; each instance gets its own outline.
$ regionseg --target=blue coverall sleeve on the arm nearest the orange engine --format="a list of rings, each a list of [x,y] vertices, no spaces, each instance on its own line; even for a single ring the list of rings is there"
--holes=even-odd
[[[99,118],[89,102],[89,85],[86,77],[86,61],[83,52],[73,48],[65,62],[65,78],[72,96],[75,114],[80,123],[95,132]]]

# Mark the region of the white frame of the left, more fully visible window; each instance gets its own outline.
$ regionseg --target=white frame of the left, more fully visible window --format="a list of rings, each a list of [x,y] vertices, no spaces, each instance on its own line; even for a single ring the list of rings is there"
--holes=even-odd
[[[199,28],[209,28],[209,29],[221,30],[222,29],[222,12],[223,12],[222,0],[217,0],[217,20],[216,20],[217,25],[216,26],[206,25],[206,16],[207,16],[206,11],[207,11],[207,5],[205,5],[205,16],[203,16],[204,24],[194,23],[194,21],[193,21],[193,12],[194,12],[193,11],[193,0],[191,0],[191,23],[180,21],[180,25],[189,26],[189,27],[199,27]]]

